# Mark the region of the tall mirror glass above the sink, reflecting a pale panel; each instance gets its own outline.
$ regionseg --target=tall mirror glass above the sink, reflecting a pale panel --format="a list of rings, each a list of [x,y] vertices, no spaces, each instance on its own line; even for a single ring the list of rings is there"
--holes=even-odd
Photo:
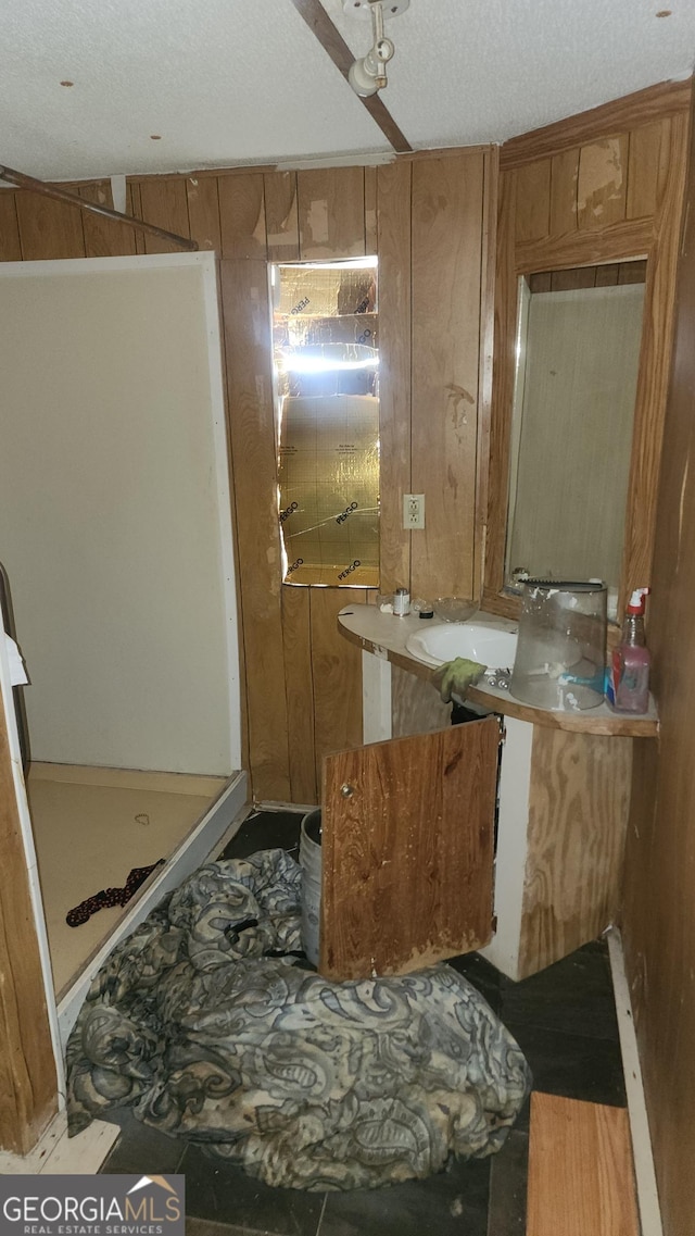
[[[506,588],[521,572],[618,588],[646,266],[518,281]]]

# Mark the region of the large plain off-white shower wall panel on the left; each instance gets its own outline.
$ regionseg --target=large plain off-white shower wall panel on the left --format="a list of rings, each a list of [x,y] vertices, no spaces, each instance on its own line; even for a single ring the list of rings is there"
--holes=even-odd
[[[214,258],[0,274],[0,541],[33,758],[228,775],[238,654]]]

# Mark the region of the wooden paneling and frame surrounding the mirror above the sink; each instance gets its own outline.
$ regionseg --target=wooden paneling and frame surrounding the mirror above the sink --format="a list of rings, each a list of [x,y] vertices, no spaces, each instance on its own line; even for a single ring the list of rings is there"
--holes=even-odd
[[[594,114],[514,138],[500,153],[481,598],[486,611],[510,618],[521,607],[520,597],[505,590],[517,289],[520,277],[538,271],[647,260],[618,617],[628,592],[651,580],[688,126],[675,91],[662,100],[660,117],[653,110],[642,111],[635,98],[632,112],[618,116],[614,105],[606,104]],[[635,185],[638,172],[649,167],[646,133],[660,143],[651,152],[651,159],[657,158],[653,185],[648,194],[639,197],[633,189],[631,197],[631,178]],[[604,183],[594,183],[589,193],[586,176],[594,168]],[[607,180],[611,192],[606,192],[606,176],[614,177]],[[615,185],[621,182],[620,211],[614,199],[620,198]],[[601,209],[594,210],[591,219],[581,219],[583,200],[600,200]]]

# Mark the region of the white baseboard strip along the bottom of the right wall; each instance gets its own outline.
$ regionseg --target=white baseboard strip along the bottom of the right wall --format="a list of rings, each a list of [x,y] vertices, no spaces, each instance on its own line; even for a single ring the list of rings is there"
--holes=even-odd
[[[635,1161],[635,1180],[637,1187],[637,1205],[639,1208],[639,1224],[642,1236],[663,1236],[662,1211],[659,1208],[659,1193],[657,1189],[657,1173],[654,1170],[654,1156],[652,1153],[652,1138],[649,1136],[649,1120],[644,1100],[644,1086],[642,1083],[639,1052],[637,1049],[637,1036],[635,1033],[635,1018],[632,1016],[632,1000],[630,997],[630,986],[625,973],[622,936],[618,928],[609,927],[606,939],[609,942],[609,957],[611,962],[620,1047],[622,1052],[622,1068],[625,1073],[625,1090],[627,1094],[627,1111],[630,1115],[630,1131],[632,1135],[632,1156]]]

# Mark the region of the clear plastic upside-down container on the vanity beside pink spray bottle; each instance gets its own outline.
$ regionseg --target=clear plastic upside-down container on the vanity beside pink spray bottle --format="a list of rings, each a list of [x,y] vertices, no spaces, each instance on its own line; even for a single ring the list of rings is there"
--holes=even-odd
[[[605,665],[605,586],[526,580],[511,693],[536,708],[596,708],[604,700]]]

